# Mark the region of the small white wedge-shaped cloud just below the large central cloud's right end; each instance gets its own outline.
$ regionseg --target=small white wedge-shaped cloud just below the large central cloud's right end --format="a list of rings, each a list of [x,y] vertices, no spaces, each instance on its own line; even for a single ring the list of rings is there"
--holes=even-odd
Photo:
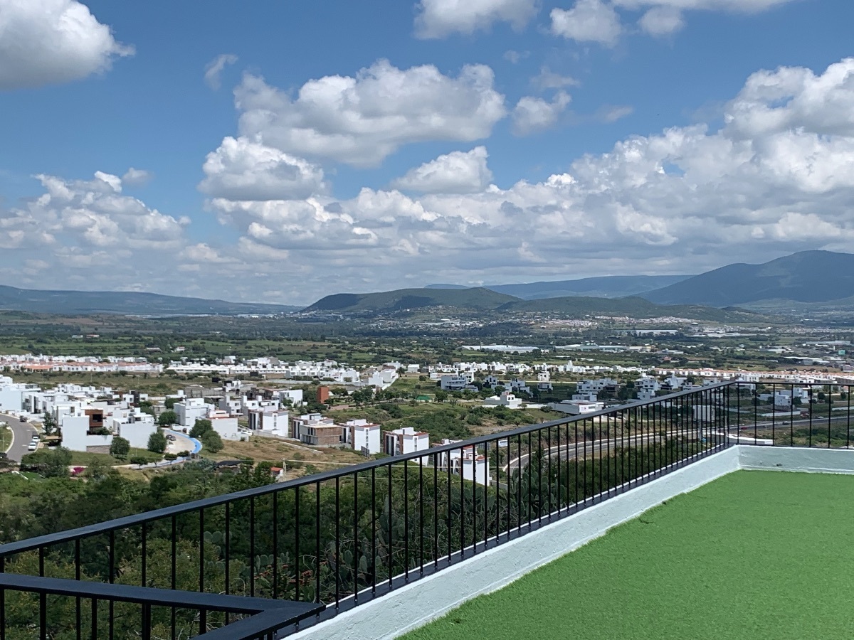
[[[485,147],[440,155],[395,180],[392,187],[423,193],[465,194],[483,191],[492,180]]]

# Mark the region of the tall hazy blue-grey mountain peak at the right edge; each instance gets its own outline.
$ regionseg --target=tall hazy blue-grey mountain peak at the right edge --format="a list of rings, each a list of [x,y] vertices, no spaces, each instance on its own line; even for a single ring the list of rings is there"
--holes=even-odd
[[[854,254],[802,251],[763,265],[727,265],[641,295],[665,305],[843,300],[854,296]]]

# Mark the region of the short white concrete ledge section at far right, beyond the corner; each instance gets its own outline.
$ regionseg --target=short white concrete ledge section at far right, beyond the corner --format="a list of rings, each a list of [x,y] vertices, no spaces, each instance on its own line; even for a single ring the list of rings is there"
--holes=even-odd
[[[809,474],[854,474],[854,451],[782,446],[736,447],[741,468],[799,471]]]

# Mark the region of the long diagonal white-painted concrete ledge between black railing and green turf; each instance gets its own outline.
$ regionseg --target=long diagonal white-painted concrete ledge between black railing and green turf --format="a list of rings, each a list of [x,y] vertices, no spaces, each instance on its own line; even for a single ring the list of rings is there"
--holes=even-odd
[[[748,448],[748,447],[743,447]],[[757,448],[757,447],[749,447]],[[424,579],[294,634],[312,640],[394,638],[496,591],[611,527],[631,520],[671,497],[740,468],[740,448],[724,451],[516,538]]]

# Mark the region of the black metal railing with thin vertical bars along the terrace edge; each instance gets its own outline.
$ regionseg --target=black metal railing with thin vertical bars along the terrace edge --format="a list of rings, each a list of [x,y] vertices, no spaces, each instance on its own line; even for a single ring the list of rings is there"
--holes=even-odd
[[[789,439],[778,439],[775,416],[764,416],[767,394],[782,403],[778,390],[803,387],[808,417],[790,412]],[[829,425],[828,446],[847,446],[849,387],[818,387],[717,383],[3,544],[0,640],[86,637],[94,628],[87,599],[104,608],[98,637],[137,637],[146,624],[152,637],[218,629],[234,638],[281,637],[728,446],[817,445],[814,423]],[[828,396],[820,393],[830,397],[827,425],[819,399]],[[44,582],[20,582],[25,577]],[[77,582],[78,593],[58,591],[56,580]],[[113,589],[123,597],[110,596]],[[161,590],[173,601],[155,602]],[[190,601],[190,593],[201,599]],[[238,612],[219,600],[225,596],[256,608]],[[47,606],[60,597],[73,602]],[[15,598],[35,598],[38,607],[29,618],[14,616],[26,610]],[[261,610],[258,602],[270,604]],[[236,626],[258,620],[269,626]]]

